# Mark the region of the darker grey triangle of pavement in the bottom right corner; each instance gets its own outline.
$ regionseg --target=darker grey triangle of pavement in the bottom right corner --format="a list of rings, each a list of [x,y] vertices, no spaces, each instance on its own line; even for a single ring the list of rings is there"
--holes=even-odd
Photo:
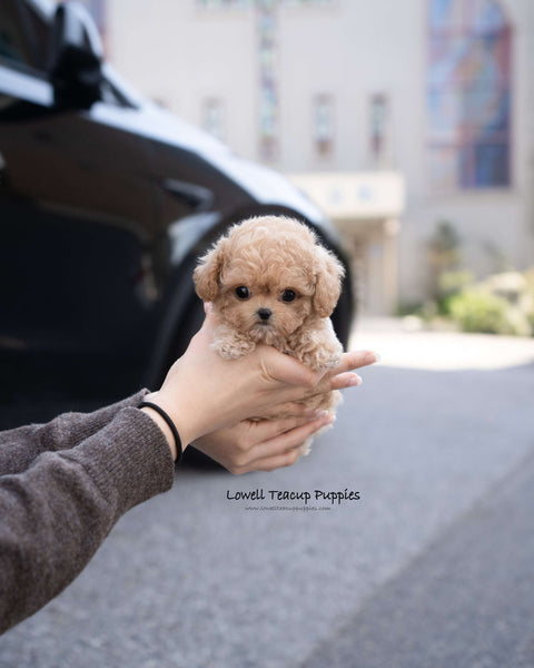
[[[531,454],[301,665],[532,668],[533,480]]]

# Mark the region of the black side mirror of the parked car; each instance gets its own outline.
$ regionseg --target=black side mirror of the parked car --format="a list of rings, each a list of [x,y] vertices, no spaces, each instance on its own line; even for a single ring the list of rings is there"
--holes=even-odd
[[[50,81],[56,105],[89,108],[100,99],[102,43],[87,10],[61,2],[53,18]]]

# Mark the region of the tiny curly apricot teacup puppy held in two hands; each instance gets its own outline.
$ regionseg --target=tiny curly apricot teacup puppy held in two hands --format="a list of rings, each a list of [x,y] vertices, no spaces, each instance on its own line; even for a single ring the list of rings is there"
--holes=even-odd
[[[312,229],[284,216],[234,225],[194,272],[198,296],[211,302],[220,318],[212,346],[222,357],[243,357],[265,343],[314,371],[340,361],[343,346],[329,316],[343,276],[343,266]],[[334,412],[339,401],[335,391],[303,403]],[[301,454],[309,452],[312,440],[301,445]]]

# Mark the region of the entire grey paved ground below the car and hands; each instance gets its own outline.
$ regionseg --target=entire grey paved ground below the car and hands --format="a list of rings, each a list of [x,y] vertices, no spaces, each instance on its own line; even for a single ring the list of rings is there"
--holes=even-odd
[[[297,465],[184,470],[130,511],[63,595],[0,638],[0,668],[534,667],[534,342],[468,369],[474,340],[436,351],[414,336],[382,335],[384,364]],[[414,344],[465,363],[403,369],[393,357]],[[227,499],[254,490],[267,498]],[[305,507],[269,490],[360,499]]]

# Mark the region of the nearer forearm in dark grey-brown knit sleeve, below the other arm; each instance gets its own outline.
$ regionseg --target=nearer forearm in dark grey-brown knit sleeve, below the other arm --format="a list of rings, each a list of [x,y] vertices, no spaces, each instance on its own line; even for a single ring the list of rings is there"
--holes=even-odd
[[[117,520],[172,480],[164,434],[134,407],[77,446],[1,477],[0,632],[65,589]]]

